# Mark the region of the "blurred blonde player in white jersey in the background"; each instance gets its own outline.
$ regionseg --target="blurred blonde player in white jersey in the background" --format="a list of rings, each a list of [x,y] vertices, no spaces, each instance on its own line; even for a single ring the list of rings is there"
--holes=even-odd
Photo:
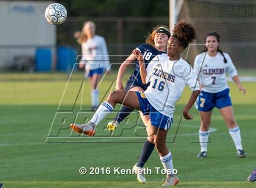
[[[82,47],[82,58],[79,68],[85,68],[85,78],[91,86],[91,110],[99,106],[98,82],[105,70],[110,71],[107,44],[102,36],[95,35],[96,25],[92,21],[85,22],[82,32],[76,32],[77,42]]]

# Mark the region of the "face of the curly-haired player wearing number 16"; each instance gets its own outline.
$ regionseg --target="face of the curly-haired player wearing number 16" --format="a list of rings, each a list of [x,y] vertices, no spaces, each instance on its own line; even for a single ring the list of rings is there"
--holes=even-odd
[[[180,45],[179,40],[171,36],[168,40],[168,45],[167,45],[167,55],[172,58],[172,57],[179,57],[180,52],[182,52],[183,47]]]

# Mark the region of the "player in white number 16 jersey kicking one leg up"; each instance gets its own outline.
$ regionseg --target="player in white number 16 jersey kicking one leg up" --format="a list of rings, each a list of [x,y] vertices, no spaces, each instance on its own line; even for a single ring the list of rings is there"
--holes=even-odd
[[[143,114],[149,114],[148,137],[153,138],[166,172],[166,181],[163,186],[174,186],[179,183],[179,179],[172,173],[172,155],[166,146],[166,136],[172,125],[175,104],[179,101],[185,85],[189,86],[193,93],[191,93],[190,99],[183,109],[183,116],[185,119],[192,119],[193,116],[188,111],[200,93],[193,69],[185,60],[180,58],[180,53],[195,38],[194,27],[182,20],[175,25],[172,32],[173,35],[168,40],[168,56],[155,56],[147,68],[140,50],[133,50],[133,55],[140,64],[141,81],[143,84],[150,82],[145,92],[114,91],[108,95],[107,100],[99,106],[87,124],[70,125],[71,129],[76,132],[93,136],[96,126],[113,111],[117,103],[140,110]],[[137,170],[138,167],[135,166],[134,169]],[[140,169],[137,172],[143,173],[143,170]]]

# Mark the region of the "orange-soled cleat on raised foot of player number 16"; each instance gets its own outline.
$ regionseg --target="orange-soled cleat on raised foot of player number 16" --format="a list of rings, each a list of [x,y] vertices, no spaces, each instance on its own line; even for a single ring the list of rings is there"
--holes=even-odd
[[[87,124],[70,124],[70,128],[73,129],[77,133],[83,133],[88,136],[95,135],[96,124],[89,121]]]

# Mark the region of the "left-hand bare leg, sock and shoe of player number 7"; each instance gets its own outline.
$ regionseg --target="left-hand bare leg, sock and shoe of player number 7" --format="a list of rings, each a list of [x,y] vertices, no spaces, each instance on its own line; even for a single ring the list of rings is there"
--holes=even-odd
[[[199,143],[201,146],[200,152],[198,153],[198,158],[206,158],[207,157],[207,144],[209,138],[209,127],[211,123],[212,111],[203,112],[200,111],[201,115],[201,124],[199,129]]]

